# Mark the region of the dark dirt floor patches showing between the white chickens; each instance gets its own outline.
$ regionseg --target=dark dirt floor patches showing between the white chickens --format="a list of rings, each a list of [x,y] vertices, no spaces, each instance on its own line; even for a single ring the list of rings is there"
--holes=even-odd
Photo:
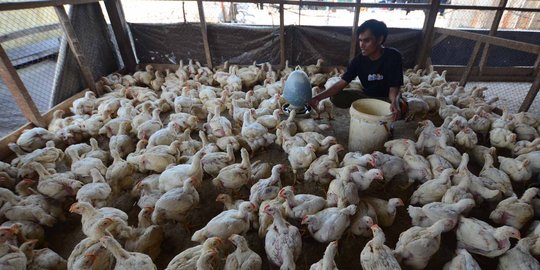
[[[348,134],[349,134],[349,113],[348,110],[337,109],[337,119],[333,121],[322,120],[324,123],[332,125],[333,129],[328,132],[328,135],[334,135],[337,137],[338,142],[347,146]],[[440,124],[436,121],[436,124]],[[416,122],[398,122],[395,125],[394,137],[396,138],[412,138],[415,139],[414,130],[416,129]],[[344,154],[344,153],[342,153]],[[237,157],[237,160],[240,160]],[[273,145],[269,149],[256,154],[252,161],[261,160],[263,162],[269,162],[272,165],[277,163],[283,163],[288,165],[286,154],[277,145]],[[474,172],[474,171],[473,171]],[[138,178],[141,178],[139,176]],[[200,189],[201,203],[191,212],[189,221],[194,225],[195,230],[202,228],[212,217],[216,216],[222,211],[223,206],[220,203],[216,203],[214,199],[219,193],[218,190],[210,182],[210,177],[205,176],[205,181]],[[292,184],[292,172],[287,172],[282,175],[283,186]],[[376,196],[378,198],[389,199],[392,197],[399,197],[403,199],[405,204],[414,190],[414,186],[407,189],[402,189],[399,184],[391,182],[385,187],[370,188],[368,192],[363,195]],[[320,196],[324,196],[324,188],[322,186],[313,185],[313,183],[300,182],[296,186],[297,193],[312,193]],[[244,188],[242,190],[242,199],[247,199],[249,190]],[[518,194],[521,194],[518,193]],[[123,209],[130,215],[130,224],[136,225],[138,207],[135,205],[135,198],[132,198],[127,192],[122,197],[117,199],[117,207]],[[135,205],[135,206],[134,206]],[[472,216],[487,219],[488,211],[483,211],[494,206],[480,206],[473,210]],[[293,222],[293,225],[301,227],[300,224]],[[386,245],[390,248],[395,248],[399,234],[405,231],[411,226],[410,218],[407,214],[406,207],[398,208],[397,217],[393,226],[383,228],[386,234]],[[191,234],[186,232],[179,224],[168,224],[165,226],[166,240],[162,244],[162,252],[158,257],[156,264],[158,269],[164,269],[169,261],[178,253],[185,250],[188,247],[194,246],[197,243],[191,242]],[[75,214],[71,214],[65,223],[56,225],[53,229],[47,233],[47,241],[50,248],[60,253],[64,258],[68,258],[73,247],[84,238],[80,228],[80,217]],[[270,265],[264,252],[264,239],[260,239],[256,230],[251,230],[247,233],[246,238],[249,241],[251,249],[261,255],[263,259],[263,269],[278,269],[277,267]],[[339,241],[338,255],[336,256],[336,262],[339,269],[361,269],[360,266],[360,252],[364,248],[364,245],[370,239],[362,237],[347,237],[344,235]],[[305,236],[303,239],[303,249],[300,258],[297,260],[297,269],[309,269],[310,265],[322,258],[326,243],[319,243],[310,236]],[[429,265],[426,269],[442,269],[443,265],[450,261],[453,257],[456,248],[455,233],[453,231],[442,235],[441,248],[432,257]],[[224,248],[225,253],[232,251],[234,247],[229,244]],[[497,260],[487,259],[480,256],[475,256],[480,266],[483,269],[495,269]],[[225,256],[223,257],[223,263]]]

